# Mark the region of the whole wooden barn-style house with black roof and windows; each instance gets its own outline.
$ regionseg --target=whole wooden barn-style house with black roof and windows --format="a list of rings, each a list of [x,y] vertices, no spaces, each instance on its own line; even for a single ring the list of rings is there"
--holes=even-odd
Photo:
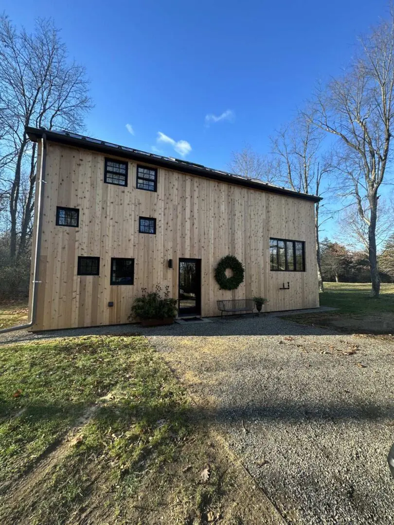
[[[179,316],[217,316],[217,300],[253,296],[268,298],[266,311],[319,306],[318,197],[77,134],[27,133],[38,142],[32,330],[128,323],[133,299],[156,285],[169,286]],[[231,291],[214,278],[229,254],[245,268]]]

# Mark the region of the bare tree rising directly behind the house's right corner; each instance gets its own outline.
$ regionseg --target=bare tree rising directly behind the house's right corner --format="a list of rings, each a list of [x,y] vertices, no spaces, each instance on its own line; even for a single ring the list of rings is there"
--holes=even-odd
[[[311,113],[298,112],[296,119],[271,138],[272,150],[279,159],[279,181],[294,191],[322,196],[328,191],[323,180],[332,170],[330,154],[322,155],[324,134],[313,124]],[[319,233],[323,223],[320,203],[315,205],[316,259],[319,290],[324,291]]]

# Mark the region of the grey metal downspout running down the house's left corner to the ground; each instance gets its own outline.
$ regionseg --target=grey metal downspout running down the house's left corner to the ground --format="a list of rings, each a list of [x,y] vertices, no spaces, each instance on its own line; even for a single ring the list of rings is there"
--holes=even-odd
[[[44,185],[45,182],[45,166],[46,166],[46,159],[47,159],[47,139],[46,139],[46,133],[42,134],[41,137],[41,143],[42,143],[42,155],[40,159],[40,170],[39,170],[39,178],[38,178],[38,205],[37,205],[37,223],[36,223],[36,243],[34,247],[34,257],[33,257],[33,287],[32,287],[32,315],[30,317],[30,321],[26,324],[19,324],[16,327],[11,328],[3,328],[0,330],[1,333],[6,332],[14,332],[15,330],[23,330],[26,328],[30,328],[33,326],[33,324],[36,322],[36,313],[37,313],[37,293],[38,293],[38,285],[41,281],[38,280],[39,275],[39,257],[40,257],[40,249],[41,249],[41,225],[43,222],[43,203],[44,203]]]

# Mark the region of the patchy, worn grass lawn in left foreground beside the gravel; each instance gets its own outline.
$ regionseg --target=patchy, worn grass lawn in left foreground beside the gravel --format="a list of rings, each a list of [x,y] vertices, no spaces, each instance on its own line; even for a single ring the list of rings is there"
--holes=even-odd
[[[0,403],[2,525],[243,523],[253,487],[142,337],[0,346]]]

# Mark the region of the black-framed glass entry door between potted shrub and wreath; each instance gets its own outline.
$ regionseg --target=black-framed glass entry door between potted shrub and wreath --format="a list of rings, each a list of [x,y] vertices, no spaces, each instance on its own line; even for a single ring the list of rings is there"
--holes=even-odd
[[[179,315],[201,315],[201,259],[179,259]]]

